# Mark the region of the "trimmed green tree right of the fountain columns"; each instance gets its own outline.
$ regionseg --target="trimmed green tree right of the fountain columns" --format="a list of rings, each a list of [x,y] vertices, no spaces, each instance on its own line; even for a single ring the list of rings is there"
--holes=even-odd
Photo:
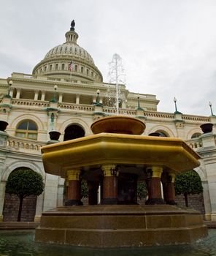
[[[175,192],[177,195],[183,194],[185,206],[188,207],[188,195],[200,194],[203,192],[201,178],[195,170],[181,173],[175,178]]]

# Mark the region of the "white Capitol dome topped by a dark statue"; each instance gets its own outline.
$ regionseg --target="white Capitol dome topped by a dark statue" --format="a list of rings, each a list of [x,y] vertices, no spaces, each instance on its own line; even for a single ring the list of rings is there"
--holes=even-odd
[[[72,78],[102,82],[101,72],[87,50],[77,45],[78,34],[74,31],[74,20],[70,31],[66,32],[66,42],[55,46],[45,55],[45,59],[36,64],[32,74],[54,78]]]

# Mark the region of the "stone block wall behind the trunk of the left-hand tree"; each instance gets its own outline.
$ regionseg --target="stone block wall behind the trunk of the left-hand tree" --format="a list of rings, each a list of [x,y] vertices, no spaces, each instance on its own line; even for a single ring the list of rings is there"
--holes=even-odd
[[[18,219],[20,200],[16,195],[5,194],[4,208],[3,208],[3,221],[16,222]],[[23,209],[21,213],[21,222],[34,222],[36,210],[36,196],[29,196],[23,200]]]

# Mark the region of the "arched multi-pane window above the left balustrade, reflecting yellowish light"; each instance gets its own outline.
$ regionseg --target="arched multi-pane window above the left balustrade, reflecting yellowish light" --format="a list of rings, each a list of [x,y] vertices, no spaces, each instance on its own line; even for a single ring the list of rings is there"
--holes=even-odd
[[[37,127],[34,121],[25,120],[18,124],[16,129],[16,136],[36,140]]]

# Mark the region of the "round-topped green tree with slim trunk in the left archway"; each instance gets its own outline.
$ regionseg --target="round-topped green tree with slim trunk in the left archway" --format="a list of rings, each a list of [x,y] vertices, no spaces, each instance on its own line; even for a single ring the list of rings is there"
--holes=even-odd
[[[21,219],[23,199],[29,195],[40,195],[44,189],[43,178],[39,173],[27,168],[13,171],[7,180],[6,192],[17,195],[20,200],[18,222]]]

